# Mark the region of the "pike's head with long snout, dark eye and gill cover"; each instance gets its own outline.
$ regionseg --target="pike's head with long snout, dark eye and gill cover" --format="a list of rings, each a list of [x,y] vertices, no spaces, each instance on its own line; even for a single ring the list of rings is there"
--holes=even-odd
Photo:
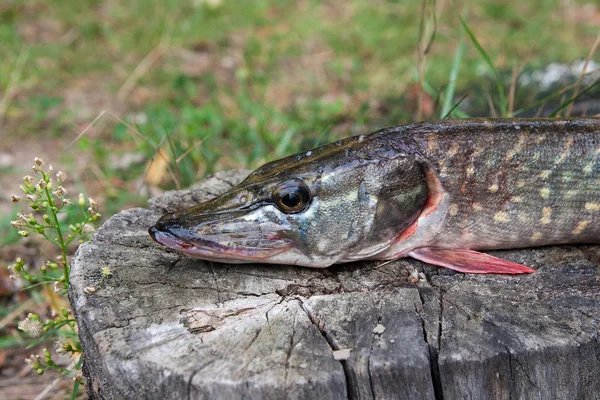
[[[265,164],[149,232],[206,260],[327,267],[387,249],[426,199],[414,156],[349,139]]]

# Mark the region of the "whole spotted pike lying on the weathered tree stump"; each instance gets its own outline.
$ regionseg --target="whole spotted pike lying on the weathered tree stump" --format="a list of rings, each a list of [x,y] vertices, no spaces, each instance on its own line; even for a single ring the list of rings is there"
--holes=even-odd
[[[519,274],[534,270],[481,251],[600,243],[599,221],[600,119],[466,119],[382,129],[270,162],[149,232],[227,263],[412,257]]]

